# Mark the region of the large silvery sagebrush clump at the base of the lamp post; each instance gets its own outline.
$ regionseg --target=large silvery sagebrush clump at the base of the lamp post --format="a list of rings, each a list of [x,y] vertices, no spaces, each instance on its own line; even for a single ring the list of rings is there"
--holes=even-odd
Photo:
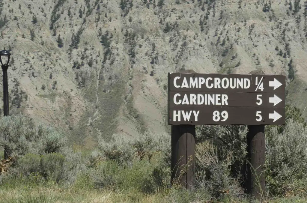
[[[72,183],[76,180],[77,171],[85,168],[80,161],[81,152],[74,153],[68,147],[64,131],[56,131],[42,123],[38,124],[36,129],[30,128],[22,114],[6,116],[0,120],[0,145],[8,151],[10,157],[16,157],[17,163],[13,164],[14,168],[10,170],[12,173],[29,176],[39,171],[44,178],[48,179],[51,175],[54,181],[61,179],[65,183]],[[51,153],[58,154],[50,155]],[[39,155],[46,156],[41,160]],[[63,164],[59,165],[63,158]],[[54,169],[50,168],[51,166],[62,168]]]

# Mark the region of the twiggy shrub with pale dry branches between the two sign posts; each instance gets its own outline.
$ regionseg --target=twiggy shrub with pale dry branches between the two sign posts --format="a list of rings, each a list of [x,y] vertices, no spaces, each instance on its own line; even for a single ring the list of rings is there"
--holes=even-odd
[[[235,162],[233,152],[226,147],[217,148],[212,142],[205,141],[196,146],[196,187],[207,190],[215,198],[242,198],[244,191],[239,179],[232,178],[229,166]],[[228,196],[229,197],[229,196]]]

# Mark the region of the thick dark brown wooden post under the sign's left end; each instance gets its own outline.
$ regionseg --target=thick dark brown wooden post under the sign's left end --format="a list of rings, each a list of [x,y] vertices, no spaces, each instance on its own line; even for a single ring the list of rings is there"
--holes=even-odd
[[[179,72],[195,73],[193,70],[183,70]],[[168,81],[168,91],[169,85]],[[168,102],[169,101],[170,98],[168,98]],[[175,182],[187,189],[191,189],[194,186],[195,138],[195,125],[172,125],[171,186]]]

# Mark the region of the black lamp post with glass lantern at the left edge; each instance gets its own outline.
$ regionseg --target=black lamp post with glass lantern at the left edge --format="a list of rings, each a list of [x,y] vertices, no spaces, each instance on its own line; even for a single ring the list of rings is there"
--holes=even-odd
[[[3,115],[9,116],[9,88],[7,84],[7,69],[9,68],[10,52],[7,50],[0,51],[0,63],[3,72]],[[4,149],[4,158],[8,159],[6,149]]]

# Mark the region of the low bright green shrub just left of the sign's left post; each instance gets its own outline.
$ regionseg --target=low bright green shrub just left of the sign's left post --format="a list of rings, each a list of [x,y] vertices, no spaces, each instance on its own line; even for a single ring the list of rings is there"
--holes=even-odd
[[[152,193],[166,188],[170,182],[170,169],[161,163],[160,158],[155,156],[155,161],[135,160],[124,166],[115,160],[107,160],[90,169],[90,176],[96,188]]]

